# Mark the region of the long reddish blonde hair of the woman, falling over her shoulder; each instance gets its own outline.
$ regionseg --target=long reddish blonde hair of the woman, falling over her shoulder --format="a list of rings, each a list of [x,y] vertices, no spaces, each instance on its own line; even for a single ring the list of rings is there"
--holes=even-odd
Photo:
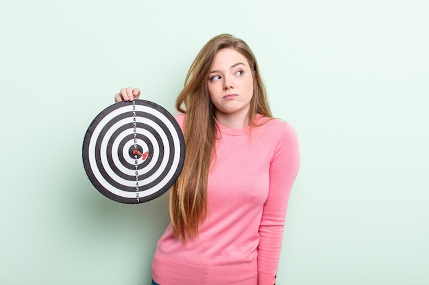
[[[176,239],[198,236],[199,224],[207,215],[207,185],[210,161],[215,155],[215,107],[208,93],[208,73],[217,51],[234,49],[249,62],[254,79],[254,94],[248,119],[257,113],[271,118],[265,86],[256,57],[247,44],[229,34],[209,40],[199,51],[186,75],[184,88],[175,102],[178,111],[186,113],[184,139],[186,157],[182,173],[170,191],[170,217]]]

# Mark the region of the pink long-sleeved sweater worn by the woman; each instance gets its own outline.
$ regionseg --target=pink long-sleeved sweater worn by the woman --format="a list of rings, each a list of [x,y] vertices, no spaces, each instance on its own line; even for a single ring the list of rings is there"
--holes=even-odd
[[[182,126],[184,115],[176,119]],[[171,224],[167,227],[152,264],[160,285],[275,284],[289,193],[299,168],[297,135],[280,120],[252,131],[218,125],[208,217],[198,238],[187,243],[174,239]]]

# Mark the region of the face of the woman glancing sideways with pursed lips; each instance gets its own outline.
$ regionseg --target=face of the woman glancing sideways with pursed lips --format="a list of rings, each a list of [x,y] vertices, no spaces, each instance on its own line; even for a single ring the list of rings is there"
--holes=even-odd
[[[254,90],[247,59],[234,49],[221,49],[213,59],[208,76],[208,92],[218,120],[219,117],[247,118]]]

